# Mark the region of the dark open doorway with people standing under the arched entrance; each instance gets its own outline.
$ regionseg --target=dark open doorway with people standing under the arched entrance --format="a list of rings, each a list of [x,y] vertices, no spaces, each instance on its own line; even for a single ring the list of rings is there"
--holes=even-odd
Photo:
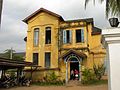
[[[70,62],[70,80],[79,80],[79,62]]]

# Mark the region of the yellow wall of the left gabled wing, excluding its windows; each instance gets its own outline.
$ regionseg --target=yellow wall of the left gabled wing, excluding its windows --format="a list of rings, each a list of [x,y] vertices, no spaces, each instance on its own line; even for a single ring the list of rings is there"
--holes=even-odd
[[[39,65],[45,66],[45,52],[51,52],[51,68],[58,67],[58,18],[40,13],[28,21],[26,61],[32,62],[33,53],[39,53]],[[51,27],[51,44],[45,45],[45,27]],[[33,46],[34,28],[39,28],[39,46]]]

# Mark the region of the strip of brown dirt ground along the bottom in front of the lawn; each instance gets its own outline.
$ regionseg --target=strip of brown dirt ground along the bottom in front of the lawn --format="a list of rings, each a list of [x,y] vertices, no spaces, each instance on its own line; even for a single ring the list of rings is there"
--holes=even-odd
[[[30,86],[0,90],[108,90],[108,86],[107,84],[96,86]]]

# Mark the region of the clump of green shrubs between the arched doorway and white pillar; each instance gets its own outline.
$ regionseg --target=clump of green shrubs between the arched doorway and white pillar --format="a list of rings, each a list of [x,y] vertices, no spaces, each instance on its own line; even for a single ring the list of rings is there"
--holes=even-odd
[[[105,67],[104,64],[93,65],[93,69],[86,68],[82,71],[82,84],[95,84],[101,81],[104,75]]]

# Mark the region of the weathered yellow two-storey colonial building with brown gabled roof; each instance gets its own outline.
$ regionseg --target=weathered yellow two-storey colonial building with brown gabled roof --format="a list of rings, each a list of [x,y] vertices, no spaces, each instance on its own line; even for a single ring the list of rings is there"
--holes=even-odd
[[[104,63],[101,29],[93,18],[64,20],[60,15],[40,8],[23,20],[28,25],[26,61],[41,66],[33,76],[43,78],[55,71],[61,79],[70,80],[72,70],[79,72]]]

